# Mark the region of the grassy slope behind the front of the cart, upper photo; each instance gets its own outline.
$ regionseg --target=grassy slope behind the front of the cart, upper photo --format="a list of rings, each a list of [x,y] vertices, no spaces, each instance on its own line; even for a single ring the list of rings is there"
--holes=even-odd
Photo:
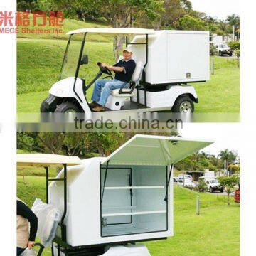
[[[18,95],[49,90],[51,85],[58,81],[66,44],[67,41],[57,42],[53,39],[18,39]],[[79,49],[80,43],[73,43],[73,50],[79,53]],[[80,77],[87,78],[87,82],[92,80],[97,74],[99,70],[97,61],[102,60],[102,56],[105,56],[104,60],[107,63],[114,61],[112,43],[87,42],[84,52],[89,54],[89,65],[81,67]],[[73,60],[77,61],[77,58]],[[76,66],[76,63],[74,65]],[[85,73],[87,74],[86,76]],[[71,71],[70,75],[72,75]],[[40,103],[38,102],[39,105]],[[20,104],[22,102],[18,102],[18,107],[20,107]]]

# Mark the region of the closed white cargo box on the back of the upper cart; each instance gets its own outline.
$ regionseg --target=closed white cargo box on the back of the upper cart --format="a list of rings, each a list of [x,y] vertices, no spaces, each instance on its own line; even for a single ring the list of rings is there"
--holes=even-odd
[[[135,36],[132,43],[145,42]],[[134,60],[146,63],[145,46],[129,45]],[[156,31],[149,35],[146,82],[151,85],[209,80],[209,31]]]

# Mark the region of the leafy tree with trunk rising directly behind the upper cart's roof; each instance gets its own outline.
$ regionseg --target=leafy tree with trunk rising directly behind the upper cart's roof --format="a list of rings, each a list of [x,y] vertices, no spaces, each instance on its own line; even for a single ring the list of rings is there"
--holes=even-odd
[[[126,28],[131,26],[132,21],[135,21],[139,16],[146,16],[154,19],[159,16],[159,11],[163,5],[162,0],[40,0],[52,1],[58,6],[65,9],[75,9],[81,14],[85,21],[85,14],[91,18],[103,17],[110,23],[113,28]],[[113,51],[114,58],[119,58],[119,50],[124,43],[123,37],[114,36]]]

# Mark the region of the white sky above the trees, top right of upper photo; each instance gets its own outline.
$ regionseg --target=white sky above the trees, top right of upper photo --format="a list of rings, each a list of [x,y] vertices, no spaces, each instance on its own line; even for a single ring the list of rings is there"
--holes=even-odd
[[[230,14],[240,15],[240,0],[190,0],[193,10],[206,13],[208,16],[225,19]]]

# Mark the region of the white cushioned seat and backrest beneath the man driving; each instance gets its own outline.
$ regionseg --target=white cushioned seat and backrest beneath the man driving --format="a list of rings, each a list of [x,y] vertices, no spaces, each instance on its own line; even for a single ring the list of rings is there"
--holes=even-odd
[[[129,82],[129,88],[121,87],[120,89],[112,90],[111,95],[116,97],[132,97],[134,95],[134,87],[139,84],[139,80],[142,78],[142,71],[144,64],[142,61],[136,63],[132,79]]]

